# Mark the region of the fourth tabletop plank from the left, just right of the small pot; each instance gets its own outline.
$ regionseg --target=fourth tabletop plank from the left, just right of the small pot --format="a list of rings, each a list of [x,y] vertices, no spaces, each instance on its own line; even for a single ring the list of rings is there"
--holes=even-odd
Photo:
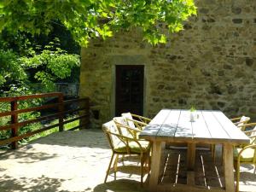
[[[198,118],[195,119],[195,122],[192,122],[193,139],[195,141],[200,141],[200,142],[203,142],[208,139],[212,139],[212,135],[208,130],[202,111],[201,110],[197,111],[196,115],[198,116]]]

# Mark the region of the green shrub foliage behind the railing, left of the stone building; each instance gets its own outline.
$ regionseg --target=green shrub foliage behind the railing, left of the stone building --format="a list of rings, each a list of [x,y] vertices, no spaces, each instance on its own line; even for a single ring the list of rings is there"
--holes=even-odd
[[[80,65],[79,55],[59,48],[58,39],[39,52],[32,48],[28,52],[19,56],[12,50],[0,49],[0,95],[31,93],[30,84],[34,82],[43,83],[44,90],[53,90],[57,79],[66,79]]]

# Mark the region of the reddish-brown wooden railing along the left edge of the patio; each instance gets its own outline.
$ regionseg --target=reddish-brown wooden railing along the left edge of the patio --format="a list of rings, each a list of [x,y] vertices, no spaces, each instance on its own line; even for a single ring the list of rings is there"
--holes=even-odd
[[[45,98],[45,97],[57,97],[58,102],[52,103],[52,104],[45,104],[42,106],[32,107],[32,108],[22,108],[22,109],[18,108],[20,101],[39,99],[39,98]],[[73,122],[74,120],[80,119],[79,125],[70,129],[70,130],[75,130],[82,127],[86,127],[86,125],[88,125],[89,123],[89,99],[88,98],[80,98],[80,99],[72,99],[72,100],[64,101],[64,96],[61,92],[54,92],[54,93],[44,93],[44,94],[29,95],[29,96],[0,97],[0,102],[10,102],[10,105],[11,105],[10,111],[5,111],[0,113],[0,118],[4,116],[11,116],[11,123],[9,125],[0,126],[0,131],[11,130],[11,136],[8,139],[0,140],[0,146],[11,143],[11,148],[15,149],[18,147],[18,141],[20,141],[21,139],[26,137],[31,137],[39,132],[47,131],[56,126],[59,127],[59,131],[63,131],[64,130],[63,127],[65,124]],[[65,110],[65,106],[74,102],[79,103],[79,108]],[[51,113],[49,115],[41,116],[36,119],[27,119],[21,122],[19,121],[20,113],[35,112],[43,109],[53,109],[53,108],[55,109],[57,108],[56,113]],[[67,113],[79,113],[79,114],[77,117],[73,119],[67,119],[64,121],[64,115],[66,115]],[[59,122],[55,125],[43,126],[38,130],[26,132],[23,135],[18,134],[18,131],[22,126],[41,122],[42,120],[54,120],[54,119],[59,120]]]

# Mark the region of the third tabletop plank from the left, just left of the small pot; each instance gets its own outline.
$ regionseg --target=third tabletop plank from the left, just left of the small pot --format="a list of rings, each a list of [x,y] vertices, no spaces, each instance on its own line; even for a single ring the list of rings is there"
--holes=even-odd
[[[177,141],[192,142],[193,130],[190,122],[189,110],[181,110],[180,117],[177,122],[177,129],[175,132],[175,139]]]

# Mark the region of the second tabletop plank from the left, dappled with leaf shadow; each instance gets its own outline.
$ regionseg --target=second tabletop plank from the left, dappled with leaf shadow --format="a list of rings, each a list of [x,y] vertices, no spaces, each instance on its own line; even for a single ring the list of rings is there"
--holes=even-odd
[[[171,139],[171,137],[175,136],[175,132],[177,129],[177,122],[180,116],[180,110],[172,110],[163,125],[160,127],[160,131],[157,133],[157,137],[167,137]]]

